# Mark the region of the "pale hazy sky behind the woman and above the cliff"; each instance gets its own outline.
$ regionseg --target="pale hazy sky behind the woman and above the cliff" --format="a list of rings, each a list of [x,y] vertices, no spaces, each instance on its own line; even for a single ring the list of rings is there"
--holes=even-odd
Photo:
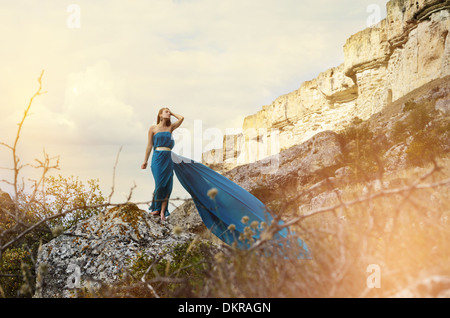
[[[115,167],[113,202],[124,202],[134,186],[132,201],[149,201],[153,177],[140,166],[161,107],[184,116],[179,130],[201,152],[220,147],[203,132],[241,128],[246,116],[343,63],[347,38],[384,19],[387,2],[4,2],[0,142],[13,144],[44,70],[46,93],[33,102],[17,148],[21,163],[45,150],[59,157],[51,174],[98,179],[104,195]],[[0,147],[0,168],[12,165]],[[26,167],[19,177],[29,184],[39,174]],[[12,179],[0,169],[0,180]],[[5,182],[0,189],[12,193]],[[172,198],[189,198],[176,177]]]

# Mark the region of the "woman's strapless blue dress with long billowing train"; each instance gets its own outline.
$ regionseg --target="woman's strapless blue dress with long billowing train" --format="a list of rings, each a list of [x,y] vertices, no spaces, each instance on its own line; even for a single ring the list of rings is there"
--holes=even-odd
[[[149,208],[151,211],[160,211],[162,201],[170,198],[175,171],[181,185],[191,195],[206,227],[225,243],[231,245],[236,242],[238,247],[247,248],[249,244],[239,239],[240,234],[245,231],[244,228],[254,221],[270,224],[273,220],[259,199],[218,172],[173,151],[155,150],[156,147],[173,148],[174,140],[170,131],[157,132],[153,136],[153,146],[151,169],[155,179],[155,191]],[[215,196],[209,192],[211,189],[215,189]],[[169,215],[168,208],[165,215]],[[248,217],[246,224],[241,222],[244,216]],[[234,230],[229,229],[231,224],[234,225]],[[277,236],[286,238],[288,230],[282,229]],[[259,238],[259,231],[256,231],[253,237]],[[299,258],[310,258],[306,243],[301,239],[297,239],[297,243],[302,251]]]

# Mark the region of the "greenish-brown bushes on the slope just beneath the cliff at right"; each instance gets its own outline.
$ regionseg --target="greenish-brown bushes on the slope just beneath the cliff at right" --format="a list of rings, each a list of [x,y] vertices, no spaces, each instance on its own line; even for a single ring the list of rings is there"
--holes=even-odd
[[[355,118],[340,133],[341,165],[349,166],[354,181],[370,180],[383,172],[383,157],[394,145],[407,146],[406,166],[424,166],[448,152],[450,122],[435,110],[436,100],[404,103],[401,119],[393,121],[392,131],[371,128],[371,121]],[[389,137],[387,137],[389,136]]]

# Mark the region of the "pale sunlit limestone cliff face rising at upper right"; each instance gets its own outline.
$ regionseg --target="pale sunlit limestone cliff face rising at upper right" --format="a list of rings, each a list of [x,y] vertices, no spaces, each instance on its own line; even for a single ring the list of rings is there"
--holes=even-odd
[[[246,117],[243,133],[226,136],[223,149],[205,153],[204,162],[224,159],[231,168],[262,159],[321,131],[340,131],[354,117],[366,120],[449,75],[450,1],[391,0],[386,7],[386,19],[348,38],[341,65]],[[267,149],[255,153],[264,138]]]

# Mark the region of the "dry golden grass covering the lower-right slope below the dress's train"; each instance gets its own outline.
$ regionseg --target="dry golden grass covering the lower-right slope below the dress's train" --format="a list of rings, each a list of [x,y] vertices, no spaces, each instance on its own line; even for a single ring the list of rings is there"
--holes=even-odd
[[[448,163],[386,176],[387,188],[349,184],[324,208],[286,218],[308,243],[311,260],[275,256],[274,242],[224,249],[198,296],[396,297],[424,278],[450,276],[448,182],[435,184],[449,178]],[[371,264],[380,270],[380,288],[368,283]]]

